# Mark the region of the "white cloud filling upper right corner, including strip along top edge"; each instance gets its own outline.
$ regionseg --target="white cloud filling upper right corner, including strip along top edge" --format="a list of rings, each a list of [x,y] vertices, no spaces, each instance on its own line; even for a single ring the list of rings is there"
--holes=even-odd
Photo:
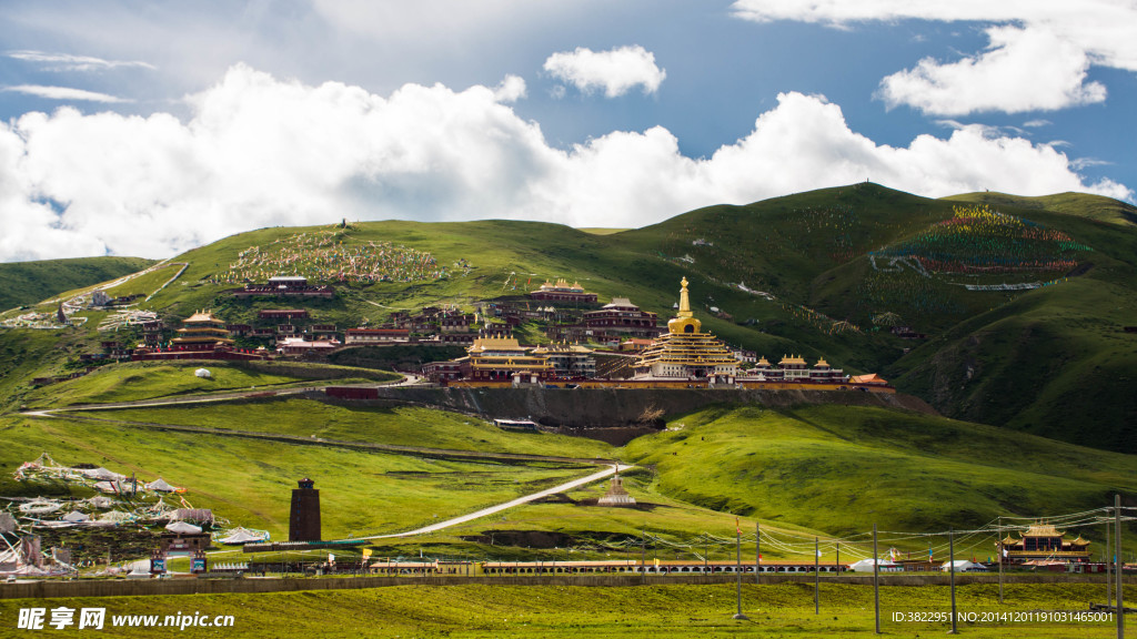
[[[1137,72],[1137,3],[1117,0],[736,0],[736,16],[848,27],[864,22],[924,19],[996,24],[986,52],[955,63],[921,60],[886,77],[880,96],[936,115],[1053,110],[1101,102],[1105,88],[1086,83],[1089,66]]]

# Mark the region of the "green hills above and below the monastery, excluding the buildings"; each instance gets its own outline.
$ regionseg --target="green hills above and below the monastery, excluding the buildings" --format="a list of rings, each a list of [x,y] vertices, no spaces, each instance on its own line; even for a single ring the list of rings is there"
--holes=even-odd
[[[521,547],[531,531],[594,549],[626,542],[640,529],[678,543],[702,532],[731,534],[729,513],[839,534],[874,522],[943,530],[999,514],[1096,508],[1114,492],[1131,499],[1137,491],[1130,392],[1137,338],[1123,331],[1137,323],[1137,229],[1124,222],[1127,205],[1111,202],[1078,194],[935,200],[864,183],[708,207],[607,234],[505,221],[263,229],[188,251],[115,289],[152,294],[140,308],[172,327],[204,308],[256,324],[262,309],[301,306],[310,323],[342,331],[425,306],[472,310],[492,300],[524,308],[525,292],[559,277],[579,281],[601,304],[628,297],[665,318],[686,276],[696,315],[722,339],[772,362],[802,354],[849,373],[882,372],[946,417],[721,407],[669,416],[669,430],[612,449],[504,433],[421,407],[352,408],[297,397],[86,418],[11,415],[22,405],[375,382],[389,377],[354,366],[421,358],[414,349],[385,359],[358,349],[339,362],[347,366],[218,364],[213,381],[193,377],[193,363],[107,364],[86,373],[80,355],[105,340],[132,345],[142,335],[110,322],[113,310],[78,310],[70,326],[0,329],[0,410],[9,412],[0,430],[15,435],[0,447],[0,464],[14,470],[47,450],[68,464],[161,474],[190,487],[194,505],[274,534],[283,530],[284,490],[310,474],[329,489],[329,536],[405,529],[587,472],[407,456],[374,445],[614,455],[648,467],[628,478],[642,509],[590,507],[601,488],[587,487],[505,520],[391,542],[395,555],[421,542],[483,553],[485,536],[493,543],[498,533]],[[181,264],[184,272],[172,280]],[[337,293],[301,300],[229,292],[276,274],[304,275]],[[61,297],[93,283],[68,284]],[[50,315],[55,306],[36,310]],[[526,341],[547,339],[532,323],[518,332]],[[31,383],[76,372],[85,375]],[[0,475],[5,496],[72,490],[10,476]]]

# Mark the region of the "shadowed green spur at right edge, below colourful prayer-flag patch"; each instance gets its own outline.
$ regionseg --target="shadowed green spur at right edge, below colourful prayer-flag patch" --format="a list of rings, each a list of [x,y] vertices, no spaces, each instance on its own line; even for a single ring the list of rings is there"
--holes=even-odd
[[[1137,374],[1137,339],[1122,332],[1137,315],[1137,230],[1031,216],[1102,249],[1088,256],[1088,271],[1007,296],[886,373],[954,417],[1137,451],[1137,400],[1127,391]]]

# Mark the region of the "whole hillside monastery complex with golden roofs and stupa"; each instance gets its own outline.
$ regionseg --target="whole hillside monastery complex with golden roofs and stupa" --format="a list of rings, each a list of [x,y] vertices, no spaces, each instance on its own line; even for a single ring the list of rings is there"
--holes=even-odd
[[[168,335],[161,322],[143,325],[146,343],[127,348],[105,342],[96,359],[322,359],[350,347],[460,347],[465,355],[426,360],[421,373],[431,383],[456,387],[547,388],[766,388],[774,390],[866,390],[895,392],[875,375],[848,376],[823,358],[812,366],[799,355],[777,364],[730,348],[691,309],[689,282],[680,282],[675,315],[666,326],[655,313],[616,297],[597,308],[597,294],[578,282],[546,281],[530,291],[530,302],[490,300],[478,313],[424,308],[392,313],[387,323],[339,331],[322,324],[308,308],[258,308],[256,324],[226,323],[198,310]],[[293,300],[334,294],[298,276],[275,276],[265,284],[230,291],[236,298]],[[543,326],[548,343],[522,345],[514,330]],[[152,325],[151,325],[152,324]],[[342,341],[341,339],[342,338]],[[164,341],[166,340],[166,341]],[[275,348],[266,348],[275,347]]]

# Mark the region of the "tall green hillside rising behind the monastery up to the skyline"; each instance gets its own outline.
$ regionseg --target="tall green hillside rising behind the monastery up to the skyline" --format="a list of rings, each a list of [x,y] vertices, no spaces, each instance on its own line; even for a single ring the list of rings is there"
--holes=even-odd
[[[1137,229],[1102,213],[1127,207],[1070,193],[933,200],[862,183],[611,234],[504,221],[263,229],[123,287],[152,293],[144,306],[174,326],[201,308],[251,324],[259,309],[293,302],[226,291],[299,274],[337,288],[304,306],[342,330],[431,305],[524,308],[528,290],[557,277],[667,317],[687,276],[704,325],[771,360],[823,356],[849,373],[883,373],[948,416],[1134,450],[1137,413],[1124,398],[1137,340],[1123,327],[1137,299]],[[179,263],[184,273],[158,290]],[[6,366],[66,372],[106,320],[86,315],[84,329],[59,333],[64,348],[0,332]],[[520,334],[547,339],[533,324]],[[28,348],[51,356],[22,357]],[[18,380],[0,384],[26,392]]]

